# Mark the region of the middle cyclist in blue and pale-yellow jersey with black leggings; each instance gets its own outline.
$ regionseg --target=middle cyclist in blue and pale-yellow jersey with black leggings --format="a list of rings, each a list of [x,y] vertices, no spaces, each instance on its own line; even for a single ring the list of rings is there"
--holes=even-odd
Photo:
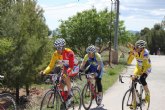
[[[96,72],[96,85],[97,85],[97,89],[99,92],[99,96],[98,96],[98,103],[101,104],[102,101],[102,83],[101,83],[101,79],[102,79],[102,74],[103,74],[103,62],[101,59],[101,55],[96,52],[96,47],[94,45],[90,45],[89,47],[87,47],[86,49],[87,54],[85,55],[81,66],[80,66],[80,72],[82,72],[84,67],[87,67],[88,65],[90,65],[87,73],[90,72]]]

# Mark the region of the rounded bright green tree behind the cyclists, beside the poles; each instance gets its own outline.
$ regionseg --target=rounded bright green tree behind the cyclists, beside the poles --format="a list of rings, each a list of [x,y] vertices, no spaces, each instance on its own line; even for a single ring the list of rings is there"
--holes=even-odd
[[[111,21],[114,21],[114,17],[114,13],[111,14],[107,9],[97,12],[93,7],[90,10],[77,13],[66,21],[61,21],[56,33],[59,37],[65,38],[68,46],[79,56],[85,54],[87,46],[96,43],[100,48],[99,51],[103,52],[108,49],[110,33],[113,41],[114,26],[110,24],[112,24]],[[121,34],[123,34],[125,33],[124,26],[122,22],[120,24]]]

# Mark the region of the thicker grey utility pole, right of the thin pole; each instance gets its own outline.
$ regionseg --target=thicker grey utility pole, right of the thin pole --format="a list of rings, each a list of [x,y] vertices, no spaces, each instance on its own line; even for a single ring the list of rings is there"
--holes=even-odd
[[[116,19],[115,19],[115,34],[114,34],[114,49],[115,49],[115,55],[114,55],[114,63],[118,63],[118,27],[119,27],[119,0],[115,1],[116,6]]]

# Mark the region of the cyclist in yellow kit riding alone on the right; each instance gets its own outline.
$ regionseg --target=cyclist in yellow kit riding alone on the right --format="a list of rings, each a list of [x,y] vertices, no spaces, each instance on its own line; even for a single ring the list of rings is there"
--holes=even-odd
[[[136,76],[140,76],[140,82],[142,83],[145,90],[145,101],[149,102],[150,91],[148,89],[146,78],[151,73],[151,60],[149,57],[149,52],[145,48],[146,44],[147,43],[144,40],[138,40],[135,43],[135,48],[133,49],[134,50],[133,55],[136,58],[137,64],[134,70],[135,77],[133,78],[133,80],[136,78]],[[132,106],[134,108],[135,105],[132,104]]]

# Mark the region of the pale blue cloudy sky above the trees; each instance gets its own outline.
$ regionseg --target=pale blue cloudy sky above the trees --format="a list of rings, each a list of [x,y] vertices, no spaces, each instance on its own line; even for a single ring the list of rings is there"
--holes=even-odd
[[[54,30],[59,26],[59,20],[67,20],[92,6],[98,11],[105,8],[110,10],[111,1],[115,0],[38,0],[38,5],[44,10],[46,24]],[[126,29],[140,31],[162,21],[165,16],[165,0],[120,0],[119,10],[119,20],[125,22]]]

